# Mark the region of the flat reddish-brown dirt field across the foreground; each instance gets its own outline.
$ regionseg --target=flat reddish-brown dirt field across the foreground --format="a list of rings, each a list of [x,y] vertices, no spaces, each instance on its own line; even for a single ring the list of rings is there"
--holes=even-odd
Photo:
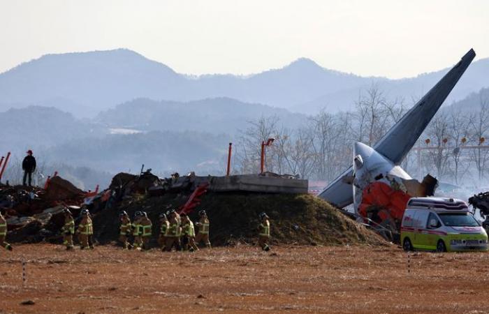
[[[411,253],[408,274],[396,246],[0,251],[0,313],[475,314],[489,313],[488,283],[489,253]]]

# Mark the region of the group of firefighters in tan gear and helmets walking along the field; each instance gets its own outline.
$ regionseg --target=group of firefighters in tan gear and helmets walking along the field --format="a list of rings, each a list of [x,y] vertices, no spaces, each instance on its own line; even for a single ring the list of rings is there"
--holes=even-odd
[[[68,208],[63,209],[64,225],[61,227],[63,244],[66,250],[73,250],[73,236],[78,235],[80,249],[94,248],[94,227],[92,217],[88,209],[80,212],[80,224],[75,230],[75,219]],[[209,240],[209,218],[205,210],[198,212],[199,220],[195,223],[198,227],[196,233],[194,223],[187,214],[178,214],[174,209],[159,215],[159,248],[163,252],[175,251],[198,251],[198,245],[203,243],[206,248],[211,248]],[[152,221],[148,218],[145,211],[136,211],[133,220],[126,211],[119,213],[119,241],[126,250],[135,249],[138,251],[149,250],[149,239],[152,237]],[[258,245],[263,251],[270,251],[270,220],[267,214],[259,214],[260,223],[258,224]],[[13,247],[6,242],[7,223],[0,213],[0,245],[8,251]],[[131,241],[129,241],[132,239]]]

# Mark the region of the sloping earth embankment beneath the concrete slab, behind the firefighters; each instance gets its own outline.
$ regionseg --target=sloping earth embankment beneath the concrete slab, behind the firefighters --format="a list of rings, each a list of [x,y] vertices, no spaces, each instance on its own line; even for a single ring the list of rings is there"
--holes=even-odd
[[[153,244],[159,232],[158,216],[187,201],[186,194],[168,193],[161,197],[136,196],[115,209],[106,209],[94,218],[96,239],[106,244],[117,239],[122,209],[133,216],[146,211],[153,221]],[[258,214],[270,216],[272,244],[385,244],[374,232],[312,195],[273,195],[249,193],[207,193],[198,209],[205,209],[210,218],[210,237],[214,245],[254,243],[258,232]],[[191,214],[197,220],[197,211]]]

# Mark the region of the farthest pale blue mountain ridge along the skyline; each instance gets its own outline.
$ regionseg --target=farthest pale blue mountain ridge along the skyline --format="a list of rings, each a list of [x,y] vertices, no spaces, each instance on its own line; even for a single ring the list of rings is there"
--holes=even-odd
[[[189,77],[126,49],[48,54],[0,74],[0,110],[44,105],[76,117],[94,117],[136,98],[188,102],[226,97],[314,114],[323,107],[333,112],[350,110],[358,93],[372,82],[392,98],[422,96],[446,70],[389,80],[328,70],[301,58],[284,68],[246,77]],[[474,62],[446,102],[489,87],[486,73],[489,59]]]

